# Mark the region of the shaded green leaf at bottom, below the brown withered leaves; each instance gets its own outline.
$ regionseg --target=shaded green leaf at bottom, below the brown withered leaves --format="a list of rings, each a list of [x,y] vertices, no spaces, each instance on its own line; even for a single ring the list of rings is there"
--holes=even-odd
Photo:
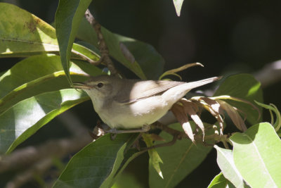
[[[192,123],[192,122],[190,122]],[[205,127],[210,126],[204,123]],[[182,130],[179,123],[172,124],[169,127]],[[192,127],[195,127],[195,123],[192,123]],[[214,130],[206,132],[207,135],[214,134]],[[169,142],[172,137],[166,132],[161,132],[160,137],[164,138],[166,142]],[[155,142],[155,144],[162,144],[163,142]],[[153,166],[149,166],[149,184],[150,187],[175,187],[178,182],[181,182],[184,177],[197,168],[207,153],[211,151],[211,147],[203,146],[200,143],[192,143],[190,139],[177,140],[172,146],[164,146],[156,149],[161,156],[163,164],[160,164],[163,177],[159,177]]]

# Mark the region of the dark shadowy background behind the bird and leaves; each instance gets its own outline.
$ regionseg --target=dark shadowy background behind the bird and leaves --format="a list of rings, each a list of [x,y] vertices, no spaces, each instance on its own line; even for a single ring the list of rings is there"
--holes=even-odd
[[[30,11],[47,23],[53,23],[58,6],[58,1],[51,0],[6,2]],[[103,0],[93,1],[90,6],[95,18],[111,32],[152,44],[166,61],[164,70],[193,62],[205,65],[205,68],[190,68],[181,72],[183,80],[256,73],[268,63],[280,60],[280,8],[279,0],[185,0],[181,17],[177,17],[172,0]],[[18,61],[18,58],[0,59],[0,72],[8,70]],[[264,87],[263,92],[266,104],[281,106],[280,82]],[[72,111],[78,114],[85,125],[92,128],[91,117],[96,114],[91,109],[89,101]],[[58,122],[56,118],[34,134],[27,143],[43,142],[49,137],[65,134]],[[131,163],[127,170],[138,173],[136,177],[146,187],[147,167],[148,156],[143,155]],[[191,185],[191,182],[193,185],[190,187],[207,187],[219,172],[216,153],[212,151],[204,163],[178,187]]]

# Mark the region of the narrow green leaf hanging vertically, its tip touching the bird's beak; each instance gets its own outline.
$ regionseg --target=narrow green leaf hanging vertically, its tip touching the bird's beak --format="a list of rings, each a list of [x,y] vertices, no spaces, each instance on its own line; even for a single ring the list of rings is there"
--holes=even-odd
[[[55,13],[55,32],[60,47],[60,59],[65,70],[67,80],[70,78],[70,54],[75,35],[91,0],[60,0]]]

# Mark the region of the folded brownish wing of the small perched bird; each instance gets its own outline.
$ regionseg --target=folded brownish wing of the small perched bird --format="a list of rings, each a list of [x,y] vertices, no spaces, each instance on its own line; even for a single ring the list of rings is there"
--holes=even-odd
[[[148,98],[149,96],[162,94],[167,89],[184,83],[185,82],[174,82],[167,80],[146,80],[134,82],[131,83],[131,92],[119,92],[119,94],[115,96],[114,100],[120,104],[130,104],[141,99]]]

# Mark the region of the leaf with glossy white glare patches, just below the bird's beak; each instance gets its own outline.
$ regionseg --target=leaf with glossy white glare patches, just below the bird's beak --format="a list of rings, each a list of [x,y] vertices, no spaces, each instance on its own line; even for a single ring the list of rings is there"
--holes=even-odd
[[[84,92],[63,89],[15,104],[0,115],[0,153],[10,153],[55,116],[88,99]]]

